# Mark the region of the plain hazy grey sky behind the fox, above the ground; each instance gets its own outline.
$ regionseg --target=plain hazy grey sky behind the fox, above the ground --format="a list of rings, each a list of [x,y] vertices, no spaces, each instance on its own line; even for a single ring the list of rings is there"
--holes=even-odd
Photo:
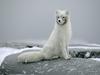
[[[0,41],[47,40],[57,9],[71,12],[72,41],[100,44],[100,0],[0,0]]]

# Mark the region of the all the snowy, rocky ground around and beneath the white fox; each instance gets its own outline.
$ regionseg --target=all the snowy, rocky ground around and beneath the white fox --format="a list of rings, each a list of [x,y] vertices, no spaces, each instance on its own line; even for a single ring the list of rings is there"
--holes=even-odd
[[[39,47],[42,47],[43,44],[16,44],[14,42],[10,45],[6,43],[4,46],[0,47],[0,74],[100,75],[99,44],[77,43],[70,45],[69,49],[73,58],[68,61],[56,59],[29,64],[18,63],[18,54],[28,49],[26,47],[31,46],[34,46],[31,48],[32,50],[40,50]]]

